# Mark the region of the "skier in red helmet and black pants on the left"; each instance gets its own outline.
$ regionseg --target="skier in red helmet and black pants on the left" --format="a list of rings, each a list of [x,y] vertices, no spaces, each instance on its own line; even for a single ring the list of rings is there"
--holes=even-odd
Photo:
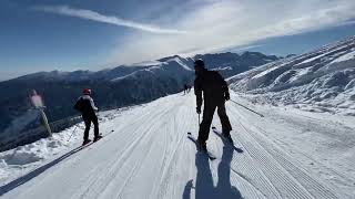
[[[99,108],[95,106],[90,95],[91,95],[91,90],[89,88],[83,90],[83,95],[78,98],[74,105],[74,108],[81,112],[82,118],[85,123],[83,145],[91,142],[89,139],[89,130],[90,130],[91,123],[93,123],[93,126],[94,126],[93,142],[97,142],[98,139],[102,138],[102,136],[99,134],[99,122],[95,114],[95,112],[98,112]]]

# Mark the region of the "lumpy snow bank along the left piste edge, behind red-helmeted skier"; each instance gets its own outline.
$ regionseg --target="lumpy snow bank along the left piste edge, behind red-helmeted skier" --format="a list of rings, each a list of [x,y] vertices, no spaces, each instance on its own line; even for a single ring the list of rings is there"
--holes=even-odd
[[[99,114],[100,124],[112,121],[133,107],[102,112]],[[93,136],[92,130],[93,127],[90,137]],[[102,125],[100,125],[100,130],[103,132],[103,135],[108,133]],[[80,123],[53,134],[52,138],[42,138],[32,144],[0,153],[0,186],[81,146],[83,132],[84,124]]]

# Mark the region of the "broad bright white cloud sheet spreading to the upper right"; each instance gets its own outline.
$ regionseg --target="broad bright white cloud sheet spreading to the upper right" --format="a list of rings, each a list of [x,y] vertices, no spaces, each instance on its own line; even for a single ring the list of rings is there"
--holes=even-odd
[[[190,0],[172,4],[159,18],[190,33],[176,35],[131,34],[120,39],[110,62],[152,60],[171,54],[192,55],[250,45],[267,38],[292,35],[336,27],[355,18],[354,0]],[[164,20],[162,20],[164,21]],[[165,24],[169,23],[165,21]],[[285,46],[286,48],[286,46]]]

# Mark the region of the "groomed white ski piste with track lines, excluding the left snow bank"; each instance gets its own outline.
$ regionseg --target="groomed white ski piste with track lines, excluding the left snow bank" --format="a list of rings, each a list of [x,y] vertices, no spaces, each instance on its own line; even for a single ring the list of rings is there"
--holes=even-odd
[[[312,156],[268,136],[262,124],[276,122],[267,121],[265,111],[266,117],[260,118],[227,102],[227,114],[242,154],[224,146],[212,130],[207,147],[216,159],[196,153],[186,138],[187,132],[197,135],[194,95],[180,93],[103,122],[106,135],[100,142],[2,186],[0,198],[352,198],[302,161]],[[221,128],[216,115],[212,125]],[[317,164],[344,186],[354,181]]]

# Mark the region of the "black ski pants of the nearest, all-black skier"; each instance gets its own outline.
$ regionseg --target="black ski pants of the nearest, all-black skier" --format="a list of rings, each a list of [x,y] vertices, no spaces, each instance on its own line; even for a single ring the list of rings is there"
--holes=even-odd
[[[225,102],[205,102],[203,109],[202,123],[200,124],[199,140],[206,142],[209,139],[211,123],[213,119],[214,111],[217,108],[217,114],[222,123],[222,132],[230,133],[232,126],[229,116],[225,112]]]

